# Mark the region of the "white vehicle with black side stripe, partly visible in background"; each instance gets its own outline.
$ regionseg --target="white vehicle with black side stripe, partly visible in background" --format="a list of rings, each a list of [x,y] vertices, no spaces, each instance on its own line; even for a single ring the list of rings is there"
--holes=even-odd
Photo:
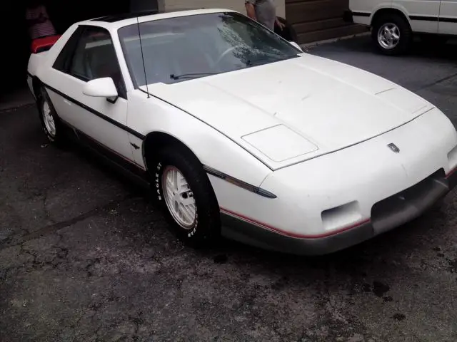
[[[371,26],[378,49],[396,55],[416,33],[440,41],[457,36],[457,0],[349,0],[345,19]]]

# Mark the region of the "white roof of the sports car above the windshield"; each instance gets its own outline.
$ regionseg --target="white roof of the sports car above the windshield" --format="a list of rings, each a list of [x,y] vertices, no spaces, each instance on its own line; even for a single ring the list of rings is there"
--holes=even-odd
[[[160,19],[176,18],[179,16],[196,16],[200,14],[234,12],[231,9],[184,9],[176,11],[141,11],[125,14],[116,14],[112,16],[101,16],[99,18],[80,21],[76,24],[104,26],[106,28],[121,28],[137,23],[137,18],[140,23],[145,21],[153,21]]]

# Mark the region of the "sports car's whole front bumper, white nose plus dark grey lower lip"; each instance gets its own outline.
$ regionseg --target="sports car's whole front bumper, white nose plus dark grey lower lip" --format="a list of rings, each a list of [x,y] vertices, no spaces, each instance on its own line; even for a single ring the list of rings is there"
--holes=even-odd
[[[271,172],[260,186],[275,199],[218,184],[222,233],[296,254],[335,252],[418,217],[454,187],[456,167],[456,129],[429,110],[363,143]]]

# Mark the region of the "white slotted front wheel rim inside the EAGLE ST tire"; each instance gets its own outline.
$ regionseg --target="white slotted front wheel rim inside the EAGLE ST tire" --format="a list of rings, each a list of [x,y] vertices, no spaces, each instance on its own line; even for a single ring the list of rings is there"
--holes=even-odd
[[[191,187],[177,167],[167,166],[162,173],[162,191],[166,207],[171,216],[182,228],[194,228],[197,220],[197,207]]]

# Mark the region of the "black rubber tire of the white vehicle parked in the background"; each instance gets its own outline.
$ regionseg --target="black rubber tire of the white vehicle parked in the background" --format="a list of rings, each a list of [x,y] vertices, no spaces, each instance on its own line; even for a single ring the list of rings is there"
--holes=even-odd
[[[398,40],[391,47],[388,46],[389,43],[383,43],[379,37],[381,30],[386,26],[393,28],[398,33]],[[399,14],[385,14],[375,20],[371,31],[371,38],[373,38],[378,51],[384,55],[396,56],[408,51],[413,40],[413,31],[411,31],[408,21]]]

